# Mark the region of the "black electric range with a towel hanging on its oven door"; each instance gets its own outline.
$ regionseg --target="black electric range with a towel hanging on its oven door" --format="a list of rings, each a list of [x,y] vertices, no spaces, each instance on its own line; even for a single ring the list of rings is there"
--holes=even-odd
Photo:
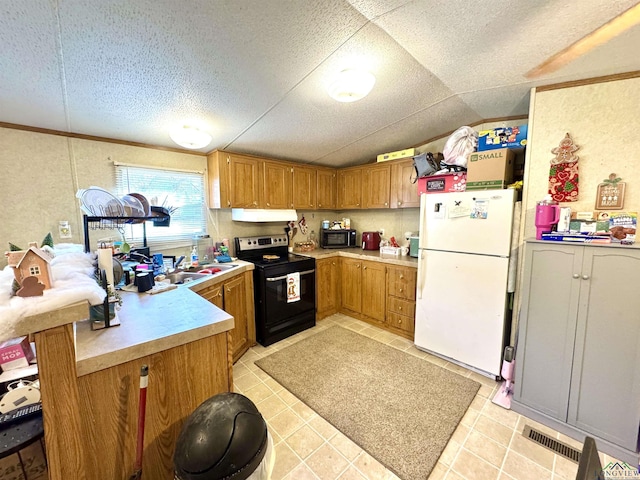
[[[240,260],[253,273],[256,340],[264,346],[316,324],[315,260],[288,251],[286,235],[236,237]]]

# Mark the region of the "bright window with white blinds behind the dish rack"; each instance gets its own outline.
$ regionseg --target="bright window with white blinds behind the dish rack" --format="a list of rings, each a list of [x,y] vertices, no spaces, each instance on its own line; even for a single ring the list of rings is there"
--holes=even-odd
[[[168,227],[144,223],[152,250],[190,246],[194,235],[206,233],[203,172],[116,164],[116,189],[119,196],[139,193],[151,205],[171,211]],[[127,225],[124,234],[143,245],[142,224]]]

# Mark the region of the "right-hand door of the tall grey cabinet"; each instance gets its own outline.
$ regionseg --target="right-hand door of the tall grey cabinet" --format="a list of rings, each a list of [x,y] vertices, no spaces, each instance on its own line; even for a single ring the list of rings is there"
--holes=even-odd
[[[636,451],[640,251],[585,248],[568,423]]]

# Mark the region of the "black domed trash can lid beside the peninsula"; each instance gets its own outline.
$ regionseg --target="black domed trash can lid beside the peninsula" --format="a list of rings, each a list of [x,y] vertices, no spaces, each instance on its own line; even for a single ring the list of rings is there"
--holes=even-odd
[[[267,425],[244,395],[221,393],[189,416],[176,443],[180,480],[245,480],[267,450]]]

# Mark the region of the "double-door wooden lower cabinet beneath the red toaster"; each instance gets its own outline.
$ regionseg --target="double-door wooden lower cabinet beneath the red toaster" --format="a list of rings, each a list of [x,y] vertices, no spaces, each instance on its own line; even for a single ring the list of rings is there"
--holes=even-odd
[[[341,259],[341,310],[375,324],[385,319],[385,265],[380,262]]]

